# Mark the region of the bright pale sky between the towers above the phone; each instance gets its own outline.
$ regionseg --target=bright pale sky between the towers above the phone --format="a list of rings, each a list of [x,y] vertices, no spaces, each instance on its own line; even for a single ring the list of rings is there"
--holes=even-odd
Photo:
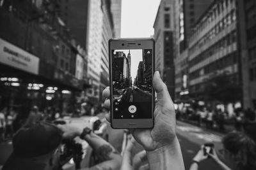
[[[122,0],[121,37],[148,38],[161,0]]]

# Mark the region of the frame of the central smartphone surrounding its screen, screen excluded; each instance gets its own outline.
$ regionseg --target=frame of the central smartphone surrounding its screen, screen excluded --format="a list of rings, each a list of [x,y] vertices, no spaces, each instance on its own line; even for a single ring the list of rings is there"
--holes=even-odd
[[[123,44],[123,45],[122,45]],[[110,87],[110,122],[113,129],[152,128],[154,127],[155,90],[152,90],[152,118],[114,119],[113,118],[113,84],[111,50],[152,49],[152,75],[155,72],[155,41],[153,38],[119,38],[109,39],[109,87]]]

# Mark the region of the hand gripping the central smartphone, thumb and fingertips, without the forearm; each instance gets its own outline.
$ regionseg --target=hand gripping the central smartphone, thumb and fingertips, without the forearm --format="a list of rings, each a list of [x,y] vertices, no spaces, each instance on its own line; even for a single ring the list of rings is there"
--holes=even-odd
[[[154,74],[153,87],[157,95],[157,103],[154,110],[154,127],[150,129],[131,129],[133,137],[146,151],[157,150],[157,148],[162,148],[163,146],[175,146],[179,143],[176,136],[176,119],[173,102],[158,71]],[[106,98],[104,106],[110,108],[109,87],[103,91],[102,95]],[[111,118],[107,115],[106,119],[110,121]]]

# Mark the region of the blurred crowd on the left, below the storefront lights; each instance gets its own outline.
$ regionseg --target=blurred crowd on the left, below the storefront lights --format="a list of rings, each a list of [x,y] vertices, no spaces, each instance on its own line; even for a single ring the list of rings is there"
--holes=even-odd
[[[89,106],[77,108],[71,115],[72,117],[79,117],[81,115],[94,116],[102,112],[104,108],[88,104]],[[70,114],[68,114],[70,115]],[[19,117],[18,111],[15,107],[4,107],[0,110],[0,142],[10,141],[13,134],[20,129],[20,127],[30,127],[38,121],[53,122],[65,115],[60,112],[60,109],[54,107],[47,107],[44,110],[39,110],[38,106],[33,106],[26,118]]]

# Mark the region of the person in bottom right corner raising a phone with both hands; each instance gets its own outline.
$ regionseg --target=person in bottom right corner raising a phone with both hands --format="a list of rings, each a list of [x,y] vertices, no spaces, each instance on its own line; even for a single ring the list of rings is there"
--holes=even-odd
[[[225,170],[249,170],[256,169],[256,144],[253,139],[249,138],[243,132],[230,132],[222,139],[223,149],[220,153],[223,158],[230,162],[231,168],[225,165],[216,154],[214,148],[212,153],[204,154],[204,145],[193,158],[190,170],[197,170],[200,162],[206,159],[212,159],[221,169]]]

